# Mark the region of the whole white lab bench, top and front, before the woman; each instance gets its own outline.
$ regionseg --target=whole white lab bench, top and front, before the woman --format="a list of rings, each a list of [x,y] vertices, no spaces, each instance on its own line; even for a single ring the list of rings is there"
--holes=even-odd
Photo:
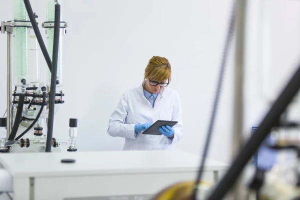
[[[75,162],[61,163],[64,158]],[[14,200],[82,200],[153,195],[194,180],[199,156],[177,150],[11,153],[1,154],[0,163],[13,176]],[[204,170],[217,180],[227,167],[207,159]]]

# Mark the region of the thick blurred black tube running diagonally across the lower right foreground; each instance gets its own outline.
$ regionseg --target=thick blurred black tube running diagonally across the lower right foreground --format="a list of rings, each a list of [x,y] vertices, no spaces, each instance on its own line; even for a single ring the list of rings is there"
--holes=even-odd
[[[232,187],[242,169],[256,152],[257,148],[268,135],[271,128],[277,124],[281,114],[284,112],[288,104],[292,101],[299,88],[300,64],[298,65],[296,72],[288,81],[276,101],[273,103],[270,110],[263,118],[262,122],[259,124],[258,128],[254,131],[245,145],[241,147],[241,150],[233,160],[229,170],[217,184],[210,196],[207,198],[208,200],[222,199],[226,195],[226,192]]]

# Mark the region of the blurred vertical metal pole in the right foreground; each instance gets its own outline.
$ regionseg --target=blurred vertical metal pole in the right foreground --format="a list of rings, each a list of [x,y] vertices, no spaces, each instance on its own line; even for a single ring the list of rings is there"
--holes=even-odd
[[[242,144],[243,128],[243,86],[244,86],[244,29],[246,0],[236,1],[236,37],[235,37],[235,67],[234,67],[234,108],[233,108],[233,159]],[[239,181],[233,188],[233,199],[241,199]]]

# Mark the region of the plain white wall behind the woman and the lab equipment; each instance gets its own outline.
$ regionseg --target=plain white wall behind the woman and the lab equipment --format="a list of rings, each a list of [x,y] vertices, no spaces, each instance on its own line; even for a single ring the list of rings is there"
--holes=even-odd
[[[1,0],[1,5],[4,5]],[[271,66],[279,80],[297,61],[299,1],[267,0],[271,6]],[[258,0],[249,3],[245,86],[245,130],[267,108],[260,95],[261,65],[257,26]],[[32,7],[45,20],[46,0]],[[199,154],[212,107],[231,0],[64,0],[68,22],[63,41],[65,104],[54,119],[54,136],[68,138],[68,118],[78,118],[79,150],[119,150],[123,139],[106,133],[108,117],[121,95],[143,79],[152,55],[172,66],[169,85],[181,95],[184,134],[175,148]],[[0,20],[11,20],[12,2],[0,6]],[[278,22],[279,20],[279,22]],[[282,28],[282,26],[284,28]],[[41,30],[43,36],[44,30]],[[274,33],[274,34],[273,34]],[[282,39],[284,37],[284,40]],[[44,37],[45,38],[45,37]],[[6,35],[0,34],[0,112],[6,108]],[[233,108],[231,48],[209,156],[229,161]],[[282,55],[282,56],[280,56]],[[46,64],[40,58],[41,75]],[[277,77],[278,76],[278,77]]]

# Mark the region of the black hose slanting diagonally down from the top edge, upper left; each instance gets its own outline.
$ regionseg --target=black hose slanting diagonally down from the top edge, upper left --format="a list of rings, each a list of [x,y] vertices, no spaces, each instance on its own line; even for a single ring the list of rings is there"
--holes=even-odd
[[[52,70],[51,70],[51,66],[52,66],[51,58],[49,56],[49,53],[48,53],[47,48],[46,48],[46,46],[45,46],[45,44],[43,42],[43,39],[42,39],[42,36],[40,34],[39,28],[37,26],[37,23],[36,23],[36,20],[35,20],[35,16],[33,14],[33,11],[32,11],[31,5],[30,5],[30,1],[29,0],[24,0],[24,4],[25,4],[25,7],[26,7],[26,10],[27,10],[27,13],[28,13],[28,16],[29,16],[32,28],[34,30],[36,39],[38,41],[39,47],[41,49],[41,52],[42,52],[42,54],[43,54],[43,56],[44,56],[44,58],[45,58],[45,60],[47,62],[47,65],[49,67],[50,72],[52,72]]]

